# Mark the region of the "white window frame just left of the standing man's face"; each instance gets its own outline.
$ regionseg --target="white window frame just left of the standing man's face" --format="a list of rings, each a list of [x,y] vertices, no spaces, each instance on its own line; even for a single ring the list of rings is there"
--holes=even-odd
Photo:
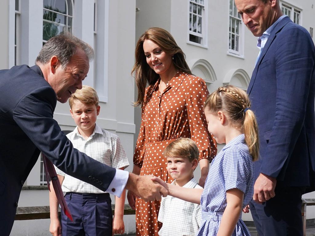
[[[243,24],[243,20],[240,16],[240,14],[238,14],[238,17],[233,16],[233,14],[230,14],[230,4],[231,1],[228,1],[228,37],[227,37],[227,55],[231,55],[231,56],[236,56],[236,57],[240,57],[240,58],[244,58],[244,24]],[[232,1],[233,6],[232,6],[232,11],[234,10],[234,7],[236,9],[235,3],[234,1]],[[230,33],[236,35],[235,33],[230,31],[230,23],[231,23],[231,18],[238,20],[239,21],[239,25],[238,25],[238,51],[233,50],[230,48]],[[232,39],[231,39],[232,40]]]

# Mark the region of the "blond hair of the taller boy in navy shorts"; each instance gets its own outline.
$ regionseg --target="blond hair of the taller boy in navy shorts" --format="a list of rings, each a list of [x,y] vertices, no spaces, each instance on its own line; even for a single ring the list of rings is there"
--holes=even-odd
[[[88,85],[83,85],[82,89],[77,89],[75,93],[72,93],[71,97],[69,98],[70,108],[72,108],[74,100],[79,100],[87,105],[95,105],[96,107],[99,103],[95,89]]]

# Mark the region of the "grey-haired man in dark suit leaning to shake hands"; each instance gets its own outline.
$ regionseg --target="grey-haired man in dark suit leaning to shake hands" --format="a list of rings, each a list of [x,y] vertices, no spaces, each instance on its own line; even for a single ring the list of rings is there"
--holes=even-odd
[[[0,70],[0,234],[9,236],[20,191],[40,151],[62,171],[108,193],[124,188],[146,200],[161,199],[165,188],[150,176],[135,176],[74,149],[53,119],[57,100],[65,103],[89,71],[93,49],[65,33],[41,49],[36,65]]]

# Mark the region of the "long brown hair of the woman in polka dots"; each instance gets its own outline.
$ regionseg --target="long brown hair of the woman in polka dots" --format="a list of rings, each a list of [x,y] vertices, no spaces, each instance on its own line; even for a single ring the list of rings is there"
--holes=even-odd
[[[148,83],[149,86],[155,84],[159,78],[159,75],[146,63],[146,56],[143,50],[143,42],[146,39],[155,42],[165,53],[173,55],[173,63],[177,70],[188,74],[192,73],[186,63],[185,54],[180,47],[178,47],[173,36],[162,28],[149,28],[141,35],[137,42],[135,49],[135,65],[131,70],[131,74],[135,72],[135,82],[138,87],[138,98],[137,101],[134,102],[135,106],[143,105],[146,84]]]

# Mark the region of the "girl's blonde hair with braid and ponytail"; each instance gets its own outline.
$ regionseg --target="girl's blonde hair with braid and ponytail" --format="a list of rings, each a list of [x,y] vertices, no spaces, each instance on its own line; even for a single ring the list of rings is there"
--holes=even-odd
[[[255,114],[249,108],[248,95],[242,89],[232,85],[219,87],[209,95],[204,104],[204,109],[213,114],[219,110],[223,111],[232,126],[244,132],[249,153],[255,161],[258,160],[259,155],[258,126]]]

